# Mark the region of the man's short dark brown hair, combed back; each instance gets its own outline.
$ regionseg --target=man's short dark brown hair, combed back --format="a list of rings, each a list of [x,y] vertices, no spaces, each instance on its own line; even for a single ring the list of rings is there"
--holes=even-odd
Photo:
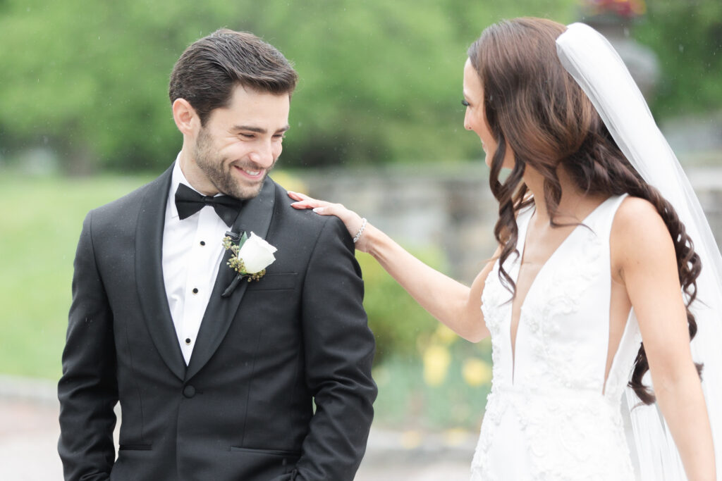
[[[193,42],[170,74],[170,102],[185,99],[201,125],[225,107],[236,85],[271,94],[292,94],[298,75],[277,48],[249,32],[216,30]]]

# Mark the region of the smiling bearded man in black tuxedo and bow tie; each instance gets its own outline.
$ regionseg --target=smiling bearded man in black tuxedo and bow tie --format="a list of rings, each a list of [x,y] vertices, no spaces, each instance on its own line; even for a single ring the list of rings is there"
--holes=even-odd
[[[352,239],[266,177],[296,81],[254,35],[196,41],[170,77],[175,163],[87,215],[58,384],[66,480],[354,478],[376,387]],[[271,245],[238,273],[227,233]]]

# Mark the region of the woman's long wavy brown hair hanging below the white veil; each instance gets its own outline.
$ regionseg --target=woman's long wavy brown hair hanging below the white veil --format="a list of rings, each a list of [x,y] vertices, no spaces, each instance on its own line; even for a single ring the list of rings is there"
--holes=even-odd
[[[505,20],[484,30],[469,48],[471,65],[484,87],[484,112],[498,145],[489,184],[499,201],[494,235],[502,247],[500,281],[516,292],[503,263],[513,253],[519,255],[516,214],[533,202],[523,182],[524,169],[529,166],[544,177],[544,201],[552,226],[557,226],[554,217],[562,198],[557,169],[562,167],[586,195],[627,193],[653,204],[674,242],[692,340],[697,322],[689,306],[697,295],[700,258],[674,208],[632,167],[586,94],[562,67],[555,40],[565,30],[564,25],[547,19]],[[500,181],[507,145],[515,163],[508,177]],[[652,404],[654,394],[642,382],[648,369],[642,344],[629,385],[642,402]],[[697,364],[697,371],[701,370]]]

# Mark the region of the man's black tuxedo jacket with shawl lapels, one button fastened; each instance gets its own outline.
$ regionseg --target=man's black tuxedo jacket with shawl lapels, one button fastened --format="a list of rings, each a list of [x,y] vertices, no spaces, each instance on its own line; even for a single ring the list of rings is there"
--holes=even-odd
[[[162,273],[171,171],[84,221],[58,383],[65,479],[352,480],[376,387],[348,232],[267,179],[234,230],[277,260],[225,298],[222,260],[186,367]]]

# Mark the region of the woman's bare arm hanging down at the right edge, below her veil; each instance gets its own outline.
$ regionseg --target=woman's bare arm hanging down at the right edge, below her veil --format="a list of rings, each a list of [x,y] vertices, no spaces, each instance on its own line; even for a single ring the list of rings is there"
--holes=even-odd
[[[651,203],[625,199],[612,227],[612,255],[619,260],[618,273],[637,315],[654,393],[687,477],[715,480],[712,432],[690,352],[677,257]]]

